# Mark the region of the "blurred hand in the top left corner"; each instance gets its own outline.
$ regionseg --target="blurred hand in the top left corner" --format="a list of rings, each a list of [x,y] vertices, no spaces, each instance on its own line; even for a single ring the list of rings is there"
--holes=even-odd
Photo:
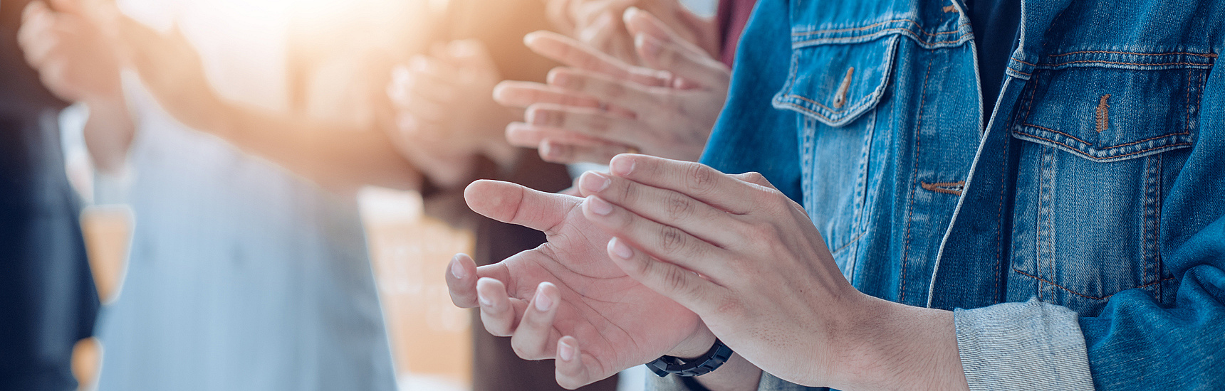
[[[85,101],[94,110],[119,106],[119,60],[85,6],[77,0],[29,2],[17,43],[43,86],[60,99]]]

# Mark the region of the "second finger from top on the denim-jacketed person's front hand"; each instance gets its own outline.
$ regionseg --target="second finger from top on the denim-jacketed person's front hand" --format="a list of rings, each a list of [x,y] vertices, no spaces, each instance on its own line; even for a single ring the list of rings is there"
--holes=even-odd
[[[681,228],[703,241],[726,247],[744,238],[734,233],[742,222],[703,202],[675,191],[644,186],[626,178],[588,171],[579,177],[583,197],[599,196],[643,217]]]

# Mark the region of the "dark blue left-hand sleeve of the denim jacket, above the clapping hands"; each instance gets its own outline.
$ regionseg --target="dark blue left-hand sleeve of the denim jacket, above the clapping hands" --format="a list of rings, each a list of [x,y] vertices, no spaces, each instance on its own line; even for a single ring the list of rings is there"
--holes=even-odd
[[[726,174],[757,171],[800,202],[800,132],[796,114],[771,105],[791,64],[788,2],[762,0],[740,37],[728,103],[702,163]]]

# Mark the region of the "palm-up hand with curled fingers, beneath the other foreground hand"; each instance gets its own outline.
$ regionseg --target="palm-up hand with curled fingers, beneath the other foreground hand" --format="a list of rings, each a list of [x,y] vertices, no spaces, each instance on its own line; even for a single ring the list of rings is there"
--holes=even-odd
[[[456,305],[480,307],[485,329],[511,336],[519,357],[557,358],[557,384],[573,389],[663,354],[701,354],[714,341],[692,312],[608,261],[610,236],[583,217],[581,198],[494,181],[472,183],[464,198],[477,213],[548,236],[492,265],[456,255],[446,281]]]

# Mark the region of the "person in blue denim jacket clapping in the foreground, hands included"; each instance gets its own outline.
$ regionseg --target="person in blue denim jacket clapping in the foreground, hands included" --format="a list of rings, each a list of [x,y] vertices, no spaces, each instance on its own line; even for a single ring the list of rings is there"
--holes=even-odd
[[[1221,7],[763,0],[714,167],[474,183],[550,243],[453,297],[566,385],[1220,389]]]

